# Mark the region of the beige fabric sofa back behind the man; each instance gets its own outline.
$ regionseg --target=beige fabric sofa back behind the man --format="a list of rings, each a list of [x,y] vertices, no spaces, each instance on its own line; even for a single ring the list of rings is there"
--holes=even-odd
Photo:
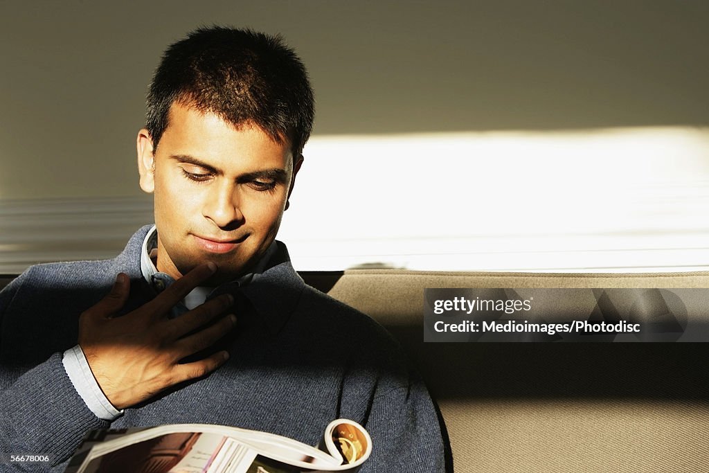
[[[707,288],[709,273],[301,274],[400,341],[440,408],[450,471],[709,472],[705,343],[423,342],[427,287]]]

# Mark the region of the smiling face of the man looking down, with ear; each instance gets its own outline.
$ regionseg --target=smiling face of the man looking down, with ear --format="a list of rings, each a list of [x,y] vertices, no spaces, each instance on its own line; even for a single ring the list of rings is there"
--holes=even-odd
[[[153,151],[140,130],[140,187],[155,194],[157,269],[177,279],[211,261],[218,272],[209,284],[250,269],[276,238],[301,165],[289,141],[176,103]]]

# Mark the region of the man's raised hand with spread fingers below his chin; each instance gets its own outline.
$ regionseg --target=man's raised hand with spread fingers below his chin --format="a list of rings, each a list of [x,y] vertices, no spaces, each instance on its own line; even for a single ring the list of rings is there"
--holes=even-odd
[[[213,263],[200,265],[152,301],[114,318],[130,290],[128,276],[121,273],[111,292],[82,313],[79,346],[113,406],[134,406],[169,386],[212,372],[228,359],[228,352],[223,351],[196,362],[178,363],[233,329],[233,314],[214,321],[233,304],[232,296],[223,294],[182,316],[167,318],[177,302],[215,271]]]

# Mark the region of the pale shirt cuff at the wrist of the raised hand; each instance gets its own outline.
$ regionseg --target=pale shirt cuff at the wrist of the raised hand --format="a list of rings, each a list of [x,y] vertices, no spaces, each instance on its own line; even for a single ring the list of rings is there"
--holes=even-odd
[[[79,396],[84,400],[86,406],[91,409],[91,412],[96,414],[96,417],[104,421],[113,421],[113,419],[123,414],[123,409],[118,411],[111,401],[106,399],[104,391],[101,391],[99,383],[94,378],[94,373],[91,372],[89,362],[86,361],[84,351],[79,345],[69,348],[64,352],[62,364],[67,370],[69,379],[74,384],[74,389],[77,390]]]

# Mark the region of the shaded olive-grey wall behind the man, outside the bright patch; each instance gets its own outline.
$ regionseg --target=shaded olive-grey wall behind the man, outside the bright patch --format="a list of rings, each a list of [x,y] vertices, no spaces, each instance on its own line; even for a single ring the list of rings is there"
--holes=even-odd
[[[37,245],[54,259],[92,247],[103,257],[149,219],[150,199],[140,194],[134,169],[143,98],[164,46],[196,26],[283,33],[316,88],[316,143],[452,132],[703,130],[708,20],[706,2],[673,0],[5,1],[0,253],[26,251],[14,267],[52,259],[37,255]],[[416,165],[435,169],[435,157],[417,157]],[[77,248],[70,236],[28,240],[60,231],[38,225],[50,216],[96,223],[96,212],[111,209],[120,228],[114,220],[110,231],[104,224],[96,230],[115,235],[111,241],[92,236]]]

